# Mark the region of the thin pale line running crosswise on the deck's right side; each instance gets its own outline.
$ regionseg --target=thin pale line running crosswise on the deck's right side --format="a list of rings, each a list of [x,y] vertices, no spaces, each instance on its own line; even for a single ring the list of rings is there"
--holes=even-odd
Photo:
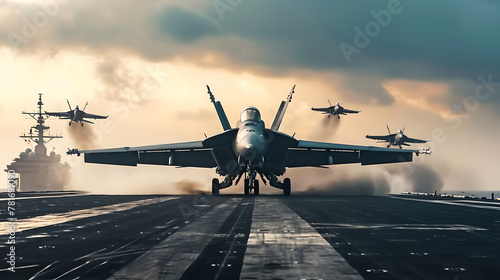
[[[389,230],[487,230],[461,224],[345,224],[345,223],[311,223],[316,229],[389,229]]]

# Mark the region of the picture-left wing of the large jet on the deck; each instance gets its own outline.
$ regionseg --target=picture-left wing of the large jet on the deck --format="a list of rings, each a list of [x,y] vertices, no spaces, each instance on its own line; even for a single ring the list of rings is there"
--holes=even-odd
[[[138,164],[213,168],[232,166],[235,162],[231,145],[237,130],[229,130],[203,141],[123,147],[99,150],[70,150],[68,154],[84,154],[85,162],[137,166]]]

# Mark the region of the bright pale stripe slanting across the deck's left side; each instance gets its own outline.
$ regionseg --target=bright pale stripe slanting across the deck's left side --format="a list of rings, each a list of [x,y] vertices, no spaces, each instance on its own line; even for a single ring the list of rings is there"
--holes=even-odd
[[[177,199],[177,197],[157,197],[149,198],[131,202],[124,202],[106,206],[99,206],[88,209],[75,210],[65,213],[48,214],[43,216],[37,216],[33,218],[16,220],[16,232],[21,232],[25,230],[31,230],[35,228],[41,228],[46,226],[52,226],[56,224],[62,224],[74,220],[100,216],[104,214],[109,214],[113,212],[125,211],[139,206],[150,205],[154,203],[165,202],[168,200]],[[10,233],[10,223],[11,222],[0,222],[0,235],[7,235]]]

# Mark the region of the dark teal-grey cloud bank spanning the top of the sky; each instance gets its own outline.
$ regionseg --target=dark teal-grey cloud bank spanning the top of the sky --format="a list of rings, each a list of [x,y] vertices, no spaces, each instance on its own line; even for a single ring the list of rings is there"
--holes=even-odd
[[[190,1],[191,2],[191,1]],[[394,1],[392,1],[394,2]],[[283,75],[300,70],[342,73],[343,96],[391,104],[387,80],[475,81],[478,75],[500,77],[497,65],[500,6],[490,1],[397,1],[400,12],[359,47],[347,63],[339,45],[355,45],[355,27],[377,24],[374,14],[388,2],[370,1],[245,1],[220,21],[212,3],[196,1],[72,1],[60,5],[48,23],[24,36],[20,50],[53,52],[71,48],[98,54],[128,51],[146,59],[197,60],[210,67]],[[428,7],[433,13],[428,13]],[[18,12],[16,12],[18,11]],[[467,11],[467,12],[463,12]],[[10,3],[0,33],[23,36],[26,22],[46,13],[36,3]],[[425,20],[422,18],[425,17]],[[92,20],[89,20],[92,19]],[[379,20],[380,21],[380,20]],[[366,33],[366,30],[365,30]],[[28,38],[30,37],[30,38]],[[4,38],[7,38],[5,36]],[[480,43],[479,43],[480,42]],[[4,40],[5,45],[11,45]],[[57,47],[56,47],[57,46]],[[455,80],[453,80],[455,79]],[[333,85],[333,81],[331,81]],[[458,88],[458,87],[456,87]],[[451,92],[467,97],[471,91]],[[500,104],[500,98],[490,103]],[[450,107],[447,100],[440,106]]]

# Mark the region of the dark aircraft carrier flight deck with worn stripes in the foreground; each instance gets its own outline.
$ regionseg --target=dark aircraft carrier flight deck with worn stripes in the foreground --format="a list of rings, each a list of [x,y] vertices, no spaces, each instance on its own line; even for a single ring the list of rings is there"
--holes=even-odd
[[[499,278],[497,200],[2,196],[0,279]]]

